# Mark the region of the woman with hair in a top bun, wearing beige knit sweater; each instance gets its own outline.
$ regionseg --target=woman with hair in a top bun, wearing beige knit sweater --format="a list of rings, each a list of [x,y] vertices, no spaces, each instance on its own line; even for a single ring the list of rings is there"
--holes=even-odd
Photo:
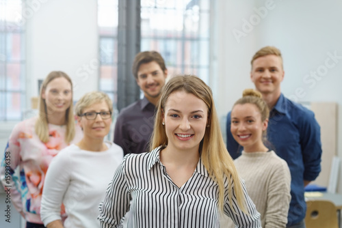
[[[269,109],[261,94],[245,89],[231,112],[231,133],[244,147],[234,160],[248,195],[261,214],[265,228],[285,228],[291,201],[291,175],[287,162],[265,146]],[[224,227],[235,227],[231,222]]]

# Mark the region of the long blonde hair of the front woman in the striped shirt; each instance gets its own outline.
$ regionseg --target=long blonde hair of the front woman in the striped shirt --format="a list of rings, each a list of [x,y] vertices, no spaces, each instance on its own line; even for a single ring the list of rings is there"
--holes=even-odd
[[[237,197],[239,208],[247,213],[243,188],[239,180],[239,176],[237,175],[237,170],[235,169],[233,159],[229,155],[226,145],[224,145],[211,89],[197,76],[174,76],[163,87],[161,98],[157,104],[155,127],[152,134],[152,141],[150,142],[150,149],[154,149],[160,145],[168,145],[168,137],[166,136],[166,131],[162,125],[162,110],[166,104],[166,101],[168,100],[168,97],[174,91],[185,91],[188,94],[194,94],[194,96],[200,100],[203,100],[203,102],[207,104],[208,127],[205,130],[205,136],[200,142],[200,157],[211,178],[218,183],[218,205],[221,212],[223,212],[224,207],[224,175],[226,175],[228,178],[229,202],[232,203],[231,196],[233,195],[233,186],[231,183],[234,182],[234,193]]]

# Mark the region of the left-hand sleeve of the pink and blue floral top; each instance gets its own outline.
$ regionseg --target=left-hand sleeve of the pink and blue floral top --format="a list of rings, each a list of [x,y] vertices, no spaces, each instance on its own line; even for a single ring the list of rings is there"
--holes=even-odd
[[[19,141],[21,124],[17,124],[12,130],[0,166],[0,180],[3,188],[5,191],[10,191],[11,203],[19,213],[23,212],[21,191],[27,190],[25,189],[25,185],[21,184],[21,170],[16,169],[21,162],[21,144]]]

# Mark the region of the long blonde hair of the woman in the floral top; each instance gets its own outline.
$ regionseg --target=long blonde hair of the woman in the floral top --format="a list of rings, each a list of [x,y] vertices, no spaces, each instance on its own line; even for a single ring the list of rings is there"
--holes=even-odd
[[[53,81],[53,79],[57,79],[63,77],[66,79],[71,85],[71,95],[73,95],[73,82],[71,81],[68,74],[62,71],[53,71],[48,74],[47,78],[44,79],[42,83],[42,87],[40,88],[40,96],[39,96],[39,105],[38,105],[38,119],[36,121],[36,125],[34,126],[34,130],[38,135],[40,141],[43,143],[47,143],[49,141],[49,122],[47,119],[47,104],[45,100],[42,98],[42,94],[45,89],[47,89],[47,85]],[[70,102],[70,106],[66,109],[65,113],[66,119],[66,134],[65,141],[66,143],[70,143],[75,137],[75,118],[73,114],[73,100]]]

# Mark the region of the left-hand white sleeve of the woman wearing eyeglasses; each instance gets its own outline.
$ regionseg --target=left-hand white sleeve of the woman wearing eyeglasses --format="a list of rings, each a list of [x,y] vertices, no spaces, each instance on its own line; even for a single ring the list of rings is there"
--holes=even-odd
[[[61,152],[53,158],[45,177],[40,205],[40,218],[45,226],[54,220],[62,220],[61,205],[70,183],[71,164],[68,153]]]

